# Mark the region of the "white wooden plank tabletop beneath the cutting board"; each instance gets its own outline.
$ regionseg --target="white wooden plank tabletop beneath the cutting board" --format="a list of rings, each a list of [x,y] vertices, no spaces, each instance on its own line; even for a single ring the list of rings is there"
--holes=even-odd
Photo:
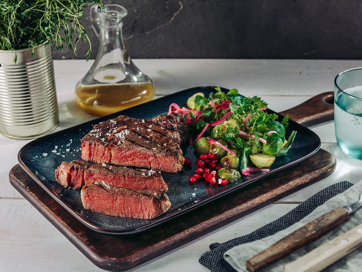
[[[237,88],[245,96],[260,96],[269,108],[280,112],[314,95],[333,91],[333,81],[343,70],[362,66],[353,60],[254,60],[254,59],[136,59],[135,64],[156,86],[155,98],[196,86]],[[56,131],[96,118],[74,101],[75,85],[92,61],[54,61],[60,111]],[[333,121],[311,129],[321,148],[337,160],[331,176],[257,210],[233,223],[195,239],[131,271],[209,271],[198,263],[211,243],[223,243],[248,234],[281,217],[317,191],[343,180],[362,179],[362,161],[345,155],[336,144]],[[30,140],[0,135],[0,272],[4,271],[104,271],[89,261],[9,183],[17,153]]]

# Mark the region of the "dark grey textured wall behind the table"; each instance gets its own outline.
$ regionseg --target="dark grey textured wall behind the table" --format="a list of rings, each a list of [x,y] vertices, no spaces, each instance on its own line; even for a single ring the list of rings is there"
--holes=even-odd
[[[360,0],[118,0],[131,58],[361,59]],[[85,10],[93,56],[98,47]],[[88,44],[53,51],[85,58]]]

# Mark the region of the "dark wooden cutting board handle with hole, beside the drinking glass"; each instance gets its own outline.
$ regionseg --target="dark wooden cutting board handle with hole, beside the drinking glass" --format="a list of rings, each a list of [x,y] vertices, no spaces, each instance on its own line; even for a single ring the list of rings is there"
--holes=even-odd
[[[279,113],[281,115],[289,114],[289,119],[310,127],[334,119],[333,101],[333,91],[324,92],[294,108]]]

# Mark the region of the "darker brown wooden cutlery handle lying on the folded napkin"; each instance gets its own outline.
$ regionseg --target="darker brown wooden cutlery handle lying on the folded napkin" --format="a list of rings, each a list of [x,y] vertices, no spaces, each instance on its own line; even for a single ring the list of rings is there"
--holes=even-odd
[[[348,217],[348,211],[342,207],[321,215],[248,259],[246,262],[247,269],[254,272],[273,263],[282,256],[318,238],[324,232],[347,220]]]

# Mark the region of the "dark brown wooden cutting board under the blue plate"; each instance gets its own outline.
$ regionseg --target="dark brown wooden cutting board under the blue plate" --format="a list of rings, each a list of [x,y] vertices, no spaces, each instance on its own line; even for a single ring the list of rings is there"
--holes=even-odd
[[[291,113],[298,114],[298,109],[291,110]],[[294,120],[307,120],[300,118],[303,116],[295,115]],[[330,112],[323,116],[313,115],[312,123],[316,124],[331,118]],[[277,172],[271,177],[261,179],[151,229],[128,235],[102,234],[84,226],[45,193],[20,165],[15,165],[11,169],[9,180],[90,261],[105,270],[122,271],[152,260],[322,180],[333,173],[335,167],[336,160],[332,154],[320,149],[307,160]]]

